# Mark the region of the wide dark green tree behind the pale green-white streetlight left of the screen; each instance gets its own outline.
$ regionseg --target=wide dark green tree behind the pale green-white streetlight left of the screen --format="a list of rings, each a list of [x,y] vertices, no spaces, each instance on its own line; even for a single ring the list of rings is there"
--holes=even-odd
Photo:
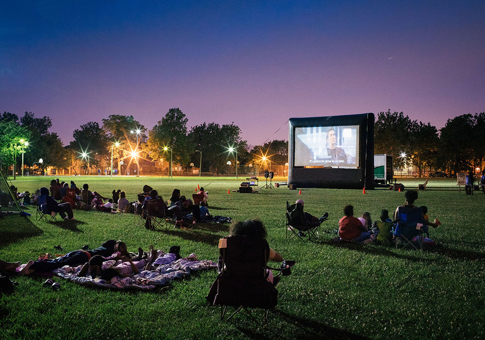
[[[214,122],[204,122],[192,127],[188,138],[194,150],[202,152],[202,170],[210,170],[215,174],[224,173],[227,160],[235,160],[235,154],[228,152],[229,147],[237,147],[238,158],[243,159],[244,156],[241,155],[245,153],[247,143],[241,140],[240,133],[241,129],[234,123],[220,126]],[[198,164],[199,157],[199,153],[193,152],[191,161]]]

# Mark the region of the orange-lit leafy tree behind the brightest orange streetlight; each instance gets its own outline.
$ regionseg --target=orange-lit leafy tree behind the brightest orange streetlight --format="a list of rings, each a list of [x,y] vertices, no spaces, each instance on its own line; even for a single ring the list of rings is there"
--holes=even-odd
[[[140,122],[135,120],[133,116],[111,115],[108,119],[103,119],[103,130],[106,134],[108,143],[106,149],[111,156],[111,147],[113,143],[119,142],[119,147],[113,148],[113,159],[118,159],[118,173],[121,173],[121,165],[119,160],[129,157],[130,153],[136,150],[136,133],[131,131],[140,131],[138,135],[138,150],[140,145],[146,141],[146,128]]]

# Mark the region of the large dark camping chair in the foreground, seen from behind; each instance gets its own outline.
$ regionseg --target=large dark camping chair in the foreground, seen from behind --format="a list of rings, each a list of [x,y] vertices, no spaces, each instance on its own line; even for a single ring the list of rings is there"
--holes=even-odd
[[[230,236],[219,240],[220,274],[210,287],[206,299],[211,306],[221,306],[221,320],[224,320],[227,306],[233,306],[237,309],[227,320],[244,309],[256,321],[248,308],[262,308],[266,323],[269,310],[278,303],[278,291],[267,280],[269,252],[270,247],[265,239]],[[283,275],[290,273],[284,272],[289,268],[272,270],[280,271]]]

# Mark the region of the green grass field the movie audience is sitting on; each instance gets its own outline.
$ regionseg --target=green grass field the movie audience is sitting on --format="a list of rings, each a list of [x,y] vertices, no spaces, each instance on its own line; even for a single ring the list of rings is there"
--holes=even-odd
[[[49,186],[51,177],[14,181],[20,191]],[[485,196],[462,190],[419,192],[418,205],[427,205],[430,220],[443,223],[431,230],[438,245],[426,251],[395,250],[379,245],[335,244],[345,204],[356,214],[371,212],[375,220],[382,208],[393,211],[404,203],[404,193],[389,190],[261,189],[258,194],[227,194],[239,187],[235,178],[115,178],[63,177],[78,186],[109,196],[123,189],[130,201],[144,184],[168,199],[177,187],[186,196],[198,185],[209,191],[211,214],[233,220],[258,218],[266,225],[268,242],[288,259],[297,260],[291,276],[278,285],[278,306],[266,325],[257,325],[240,313],[220,321],[220,308],[208,306],[205,296],[216,271],[198,272],[171,282],[157,292],[115,292],[90,289],[55,278],[57,292],[42,288],[42,280],[17,277],[19,287],[0,297],[1,339],[484,339]],[[422,179],[402,179],[406,188]],[[455,179],[433,179],[428,187],[455,188]],[[305,200],[308,212],[329,220],[320,239],[302,242],[285,239],[285,204]],[[8,217],[0,220],[0,258],[36,259],[61,244],[65,252],[88,244],[97,247],[114,238],[129,250],[150,244],[162,250],[180,245],[181,254],[217,260],[218,239],[226,225],[200,224],[192,231],[150,232],[133,225],[133,216],[75,211],[74,222],[37,222]],[[261,317],[262,312],[256,311]],[[260,320],[260,319],[259,319]]]

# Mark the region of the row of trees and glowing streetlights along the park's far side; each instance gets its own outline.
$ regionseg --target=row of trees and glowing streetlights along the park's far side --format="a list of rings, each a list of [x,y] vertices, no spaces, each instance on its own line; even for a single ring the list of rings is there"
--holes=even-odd
[[[97,168],[98,160],[109,161],[113,152],[113,168],[121,170],[121,160],[140,156],[147,160],[170,160],[188,168],[199,165],[202,172],[224,174],[234,172],[236,153],[239,166],[269,162],[288,162],[288,141],[272,140],[250,146],[240,137],[241,129],[231,124],[204,122],[187,128],[188,119],[179,108],[171,108],[151,129],[133,116],[111,115],[98,122],[90,121],[73,132],[74,140],[64,146],[56,133],[49,132],[52,120],[34,117],[25,112],[22,117],[10,112],[0,114],[0,162],[16,164],[24,153],[24,164],[31,166],[43,158],[40,169],[67,169],[73,164]],[[414,165],[419,175],[426,168],[468,171],[481,164],[485,157],[485,113],[464,114],[448,119],[441,129],[412,120],[403,112],[379,112],[374,125],[374,153],[394,156],[394,166]],[[24,142],[28,141],[28,145]],[[94,157],[94,155],[98,157]],[[227,166],[227,161],[231,166]],[[80,163],[78,163],[80,162]]]

